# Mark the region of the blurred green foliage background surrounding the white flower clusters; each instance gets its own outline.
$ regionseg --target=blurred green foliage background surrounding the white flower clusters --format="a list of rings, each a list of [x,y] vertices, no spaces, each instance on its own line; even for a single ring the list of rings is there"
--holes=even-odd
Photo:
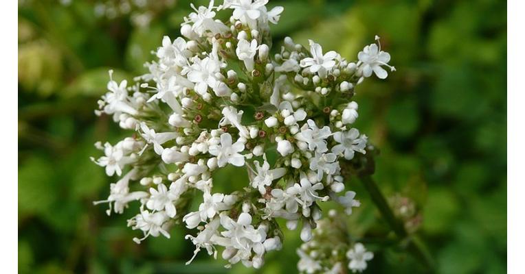
[[[101,14],[119,1],[19,0],[19,271],[21,273],[226,273],[193,247],[182,225],[172,238],[136,245],[126,227],[136,208],[108,217],[109,184],[89,161],[93,143],[124,132],[93,114],[107,71],[132,79],[164,34],[175,37],[190,1],[157,1],[130,12]],[[203,1],[196,1],[202,3]],[[506,272],[506,3],[478,1],[271,1],[284,5],[274,44],[313,38],[325,51],[357,59],[381,36],[397,71],[357,89],[357,127],[381,149],[375,179],[389,197],[416,203],[418,234],[439,273]],[[96,12],[96,10],[98,12]],[[106,10],[107,12],[107,10]],[[98,15],[97,15],[98,14]],[[148,25],[136,16],[148,14]],[[132,18],[133,17],[133,18]],[[147,21],[146,21],[147,23]],[[275,49],[274,49],[275,50]],[[230,172],[230,173],[229,173]],[[226,171],[217,190],[247,184]],[[114,180],[114,179],[113,179]],[[356,180],[361,208],[350,233],[387,231]],[[257,273],[295,273],[300,245],[286,234]],[[370,236],[368,235],[368,236]],[[370,245],[368,273],[418,273],[394,248]],[[232,273],[253,273],[235,266]]]

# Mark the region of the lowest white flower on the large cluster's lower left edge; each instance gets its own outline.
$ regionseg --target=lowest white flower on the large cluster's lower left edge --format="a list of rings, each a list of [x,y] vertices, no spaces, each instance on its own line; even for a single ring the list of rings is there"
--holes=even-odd
[[[166,231],[166,221],[168,221],[168,215],[166,215],[164,211],[152,213],[144,210],[129,220],[128,225],[131,226],[132,229],[140,229],[144,232],[143,238],[133,238],[133,240],[139,244],[150,235],[157,237],[159,234],[162,234],[164,237],[170,238],[170,234]]]

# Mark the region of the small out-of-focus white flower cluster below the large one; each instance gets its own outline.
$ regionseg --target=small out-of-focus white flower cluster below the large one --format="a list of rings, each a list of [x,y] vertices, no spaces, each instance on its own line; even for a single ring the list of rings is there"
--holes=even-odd
[[[318,222],[313,239],[297,250],[300,258],[297,267],[300,273],[346,273],[344,265],[353,273],[362,272],[374,253],[367,251],[361,242],[351,247],[348,233],[341,216],[330,210],[328,218]]]

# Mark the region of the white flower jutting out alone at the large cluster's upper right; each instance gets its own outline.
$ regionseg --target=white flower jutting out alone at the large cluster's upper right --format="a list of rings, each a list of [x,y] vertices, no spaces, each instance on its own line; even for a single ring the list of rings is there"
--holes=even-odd
[[[379,37],[376,40],[379,41]],[[359,54],[357,54],[357,58],[359,58],[359,63],[362,63],[359,66],[359,71],[363,73],[364,77],[370,77],[372,72],[374,72],[379,79],[385,79],[388,73],[381,66],[388,66],[390,71],[396,71],[394,66],[388,65],[390,54],[381,51],[381,44],[379,44],[379,47],[376,44],[364,47],[363,51],[359,51]]]

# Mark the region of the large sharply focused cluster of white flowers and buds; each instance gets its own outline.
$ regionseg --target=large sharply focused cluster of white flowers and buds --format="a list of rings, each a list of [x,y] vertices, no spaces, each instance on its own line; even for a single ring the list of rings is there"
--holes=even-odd
[[[335,200],[347,214],[359,206],[355,192],[338,195],[345,190],[340,162],[366,153],[367,137],[352,127],[358,105],[350,98],[372,72],[386,77],[381,66],[390,55],[372,44],[348,62],[288,37],[271,56],[269,25],[283,8],[269,10],[267,2],[192,5],[183,37],[165,36],[136,84],[118,84],[110,72],[96,114],[112,115],[135,134],[99,143],[105,155],[93,161],[109,176],[124,174],[100,201],[109,203],[108,214],[141,204],[128,223],[144,234],[135,242],[169,238],[170,225],[182,221],[197,229],[186,236],[195,255],[205,249],[216,256],[223,247],[229,265],[260,268],[265,253],[282,245],[277,219],[288,229],[301,225],[306,242],[322,218],[320,202]],[[230,20],[216,12],[231,12]],[[275,149],[280,157],[269,162],[266,153]],[[213,192],[214,173],[228,165],[245,166],[250,182],[230,194]],[[201,204],[190,211],[194,199]]]

